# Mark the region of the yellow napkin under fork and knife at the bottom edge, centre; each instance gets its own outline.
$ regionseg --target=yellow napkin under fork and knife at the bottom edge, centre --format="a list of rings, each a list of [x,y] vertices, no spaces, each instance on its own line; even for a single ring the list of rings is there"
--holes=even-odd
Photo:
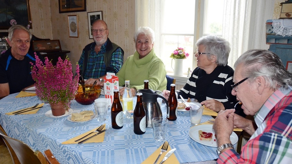
[[[158,155],[160,153],[162,145],[156,151],[154,151],[154,153],[152,153],[144,162],[142,162],[142,164],[154,163],[156,158],[158,157]],[[166,153],[168,153],[168,151],[170,151],[170,150],[171,150],[171,147],[170,147],[170,145],[168,145],[167,152],[164,152],[161,154],[157,163],[160,163],[163,160]],[[176,164],[176,163],[179,164],[174,153],[171,154],[171,156],[164,162],[165,164],[167,164],[167,163],[168,164]]]

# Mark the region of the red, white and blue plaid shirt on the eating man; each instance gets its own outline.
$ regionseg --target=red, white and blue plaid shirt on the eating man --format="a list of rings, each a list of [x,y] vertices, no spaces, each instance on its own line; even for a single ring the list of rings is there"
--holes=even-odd
[[[220,154],[217,163],[290,163],[292,161],[292,87],[276,90],[254,116],[258,128],[243,146]]]

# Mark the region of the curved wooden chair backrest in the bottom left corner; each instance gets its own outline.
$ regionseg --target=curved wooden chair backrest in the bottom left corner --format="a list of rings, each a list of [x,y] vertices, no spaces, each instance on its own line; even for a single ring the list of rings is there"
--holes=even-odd
[[[15,152],[18,162],[21,164],[47,164],[47,160],[45,156],[40,151],[33,151],[27,144],[21,142],[20,140],[8,137],[0,130],[0,136],[4,139],[4,141],[7,141],[5,143],[9,144],[9,151],[11,154],[11,148],[12,151]],[[8,147],[8,146],[7,146]],[[52,154],[52,153],[51,153]],[[52,156],[52,155],[51,155]],[[13,157],[13,162],[15,161],[15,157]],[[58,162],[58,161],[57,161]],[[15,162],[14,162],[15,163]]]

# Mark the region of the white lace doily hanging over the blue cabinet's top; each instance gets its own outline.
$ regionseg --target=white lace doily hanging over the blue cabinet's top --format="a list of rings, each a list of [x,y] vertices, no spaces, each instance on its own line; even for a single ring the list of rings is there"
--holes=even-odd
[[[292,19],[273,19],[272,27],[276,35],[292,35]]]

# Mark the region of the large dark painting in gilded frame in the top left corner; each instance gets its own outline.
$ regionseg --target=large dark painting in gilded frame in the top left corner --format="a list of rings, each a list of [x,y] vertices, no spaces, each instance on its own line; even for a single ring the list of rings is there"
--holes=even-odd
[[[9,27],[11,27],[12,24],[15,23],[23,25],[24,27],[30,25],[30,28],[32,29],[32,24],[29,23],[29,21],[32,21],[30,12],[30,0],[0,0],[0,3],[2,4],[0,6],[1,30],[9,29]],[[10,24],[10,21],[12,24]]]

